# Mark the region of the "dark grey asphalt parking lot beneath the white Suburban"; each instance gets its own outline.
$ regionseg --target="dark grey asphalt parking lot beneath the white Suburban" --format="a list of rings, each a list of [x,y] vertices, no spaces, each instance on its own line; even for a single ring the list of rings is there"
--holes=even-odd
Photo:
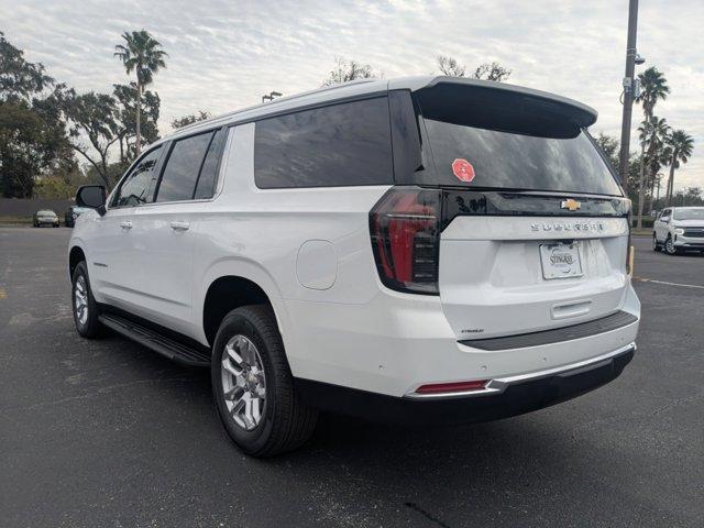
[[[342,417],[242,455],[208,373],[75,332],[69,230],[0,228],[0,525],[691,526],[704,519],[704,256],[634,239],[644,307],[622,377],[502,421]]]

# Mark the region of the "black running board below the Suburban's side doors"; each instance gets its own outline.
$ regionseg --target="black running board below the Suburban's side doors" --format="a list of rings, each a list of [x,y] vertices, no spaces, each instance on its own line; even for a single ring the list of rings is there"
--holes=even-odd
[[[116,332],[152,349],[154,352],[188,366],[210,366],[210,354],[174,341],[150,328],[112,314],[102,314],[98,320]]]

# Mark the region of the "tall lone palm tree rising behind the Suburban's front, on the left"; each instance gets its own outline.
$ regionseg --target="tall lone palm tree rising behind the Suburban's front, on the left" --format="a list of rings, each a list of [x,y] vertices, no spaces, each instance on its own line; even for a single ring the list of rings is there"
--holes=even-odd
[[[122,61],[128,75],[136,72],[136,155],[142,150],[142,91],[154,80],[154,74],[165,68],[164,58],[168,56],[161,50],[161,43],[146,30],[124,32],[122,38],[125,45],[114,46],[114,56]]]

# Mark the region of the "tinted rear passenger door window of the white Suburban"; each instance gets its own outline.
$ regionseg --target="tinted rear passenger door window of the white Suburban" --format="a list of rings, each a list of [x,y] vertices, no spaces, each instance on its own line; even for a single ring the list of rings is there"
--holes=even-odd
[[[196,188],[198,173],[206,156],[212,132],[191,135],[174,143],[162,180],[156,191],[156,201],[190,200]]]

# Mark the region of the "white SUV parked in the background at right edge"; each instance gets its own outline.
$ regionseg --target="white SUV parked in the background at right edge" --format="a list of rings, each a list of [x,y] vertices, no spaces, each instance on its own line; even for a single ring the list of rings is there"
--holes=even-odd
[[[652,224],[652,249],[675,255],[682,251],[704,252],[704,207],[669,207]]]

